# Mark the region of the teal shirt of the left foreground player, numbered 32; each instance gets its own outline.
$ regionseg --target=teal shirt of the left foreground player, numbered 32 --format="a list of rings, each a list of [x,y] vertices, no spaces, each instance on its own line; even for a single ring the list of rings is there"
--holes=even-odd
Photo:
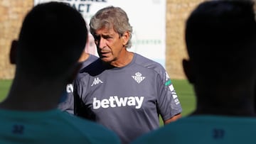
[[[54,109],[0,110],[0,143],[119,143],[114,132],[91,121]]]

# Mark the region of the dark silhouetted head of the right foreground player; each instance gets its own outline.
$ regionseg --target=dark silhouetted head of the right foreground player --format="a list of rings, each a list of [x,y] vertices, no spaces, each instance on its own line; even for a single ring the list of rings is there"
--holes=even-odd
[[[192,73],[203,82],[232,84],[252,78],[256,57],[254,3],[220,0],[199,4],[186,21],[186,46]],[[186,73],[191,82],[196,80]]]

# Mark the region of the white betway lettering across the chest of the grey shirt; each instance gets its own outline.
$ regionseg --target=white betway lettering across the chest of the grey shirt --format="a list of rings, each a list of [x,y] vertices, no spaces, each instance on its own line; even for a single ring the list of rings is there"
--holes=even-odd
[[[93,109],[108,108],[108,107],[121,107],[121,106],[135,106],[135,109],[142,107],[144,96],[129,96],[129,97],[118,97],[110,96],[110,99],[98,100],[96,97],[93,98],[92,106]]]

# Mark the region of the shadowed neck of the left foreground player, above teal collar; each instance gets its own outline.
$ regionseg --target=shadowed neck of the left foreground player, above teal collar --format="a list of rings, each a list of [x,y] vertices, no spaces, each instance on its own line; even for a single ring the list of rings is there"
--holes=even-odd
[[[22,82],[22,81],[21,81]],[[25,81],[14,80],[6,99],[0,104],[1,109],[18,111],[47,111],[55,109],[60,99],[61,90],[53,84],[32,85]]]

